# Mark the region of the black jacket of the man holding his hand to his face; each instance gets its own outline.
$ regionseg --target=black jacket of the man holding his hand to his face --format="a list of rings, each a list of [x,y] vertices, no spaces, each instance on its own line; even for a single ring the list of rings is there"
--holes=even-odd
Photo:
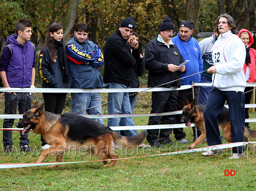
[[[140,59],[140,50],[130,50],[130,44],[122,38],[119,28],[106,41],[103,82],[131,86],[132,70]]]

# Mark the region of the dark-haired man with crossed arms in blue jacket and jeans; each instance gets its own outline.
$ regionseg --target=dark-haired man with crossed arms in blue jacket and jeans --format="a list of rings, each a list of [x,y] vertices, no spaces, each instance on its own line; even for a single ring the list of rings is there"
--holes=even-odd
[[[103,80],[100,76],[100,66],[104,64],[103,54],[98,46],[88,40],[89,26],[79,23],[75,27],[73,38],[66,44],[68,67],[72,76],[72,88],[90,89],[102,88]],[[83,115],[102,115],[102,101],[100,93],[72,93],[71,112]],[[97,107],[94,107],[99,105]],[[87,109],[89,107],[93,107]],[[87,109],[87,110],[84,110]],[[84,111],[82,111],[84,110]],[[102,118],[95,119],[103,124]]]

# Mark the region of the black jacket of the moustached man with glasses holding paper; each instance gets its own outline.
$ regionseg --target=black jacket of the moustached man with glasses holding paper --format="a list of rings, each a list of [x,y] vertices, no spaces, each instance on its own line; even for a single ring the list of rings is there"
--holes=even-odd
[[[168,64],[179,65],[183,62],[177,46],[170,45],[170,48],[164,43],[157,41],[157,38],[151,40],[145,50],[145,68],[149,70],[148,87],[155,87],[160,84],[171,82],[180,78],[180,72],[168,71]],[[184,72],[185,73],[185,72]],[[181,80],[176,81],[179,88]],[[170,88],[172,83],[162,87]]]

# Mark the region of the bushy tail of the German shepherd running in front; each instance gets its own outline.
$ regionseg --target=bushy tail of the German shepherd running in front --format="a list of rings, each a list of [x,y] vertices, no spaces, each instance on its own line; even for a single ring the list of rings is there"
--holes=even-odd
[[[134,137],[126,137],[119,135],[116,131],[110,131],[112,137],[116,141],[116,144],[118,146],[132,146],[132,147],[137,147],[144,143],[146,136],[148,135],[147,130],[144,130],[140,132],[138,135]]]

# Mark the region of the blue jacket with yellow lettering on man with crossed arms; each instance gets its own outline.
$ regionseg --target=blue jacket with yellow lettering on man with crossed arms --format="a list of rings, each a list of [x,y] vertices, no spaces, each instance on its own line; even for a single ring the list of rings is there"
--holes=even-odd
[[[72,76],[72,88],[102,88],[103,79],[100,76],[100,66],[104,57],[98,46],[88,39],[78,42],[71,38],[66,44],[68,67]]]

